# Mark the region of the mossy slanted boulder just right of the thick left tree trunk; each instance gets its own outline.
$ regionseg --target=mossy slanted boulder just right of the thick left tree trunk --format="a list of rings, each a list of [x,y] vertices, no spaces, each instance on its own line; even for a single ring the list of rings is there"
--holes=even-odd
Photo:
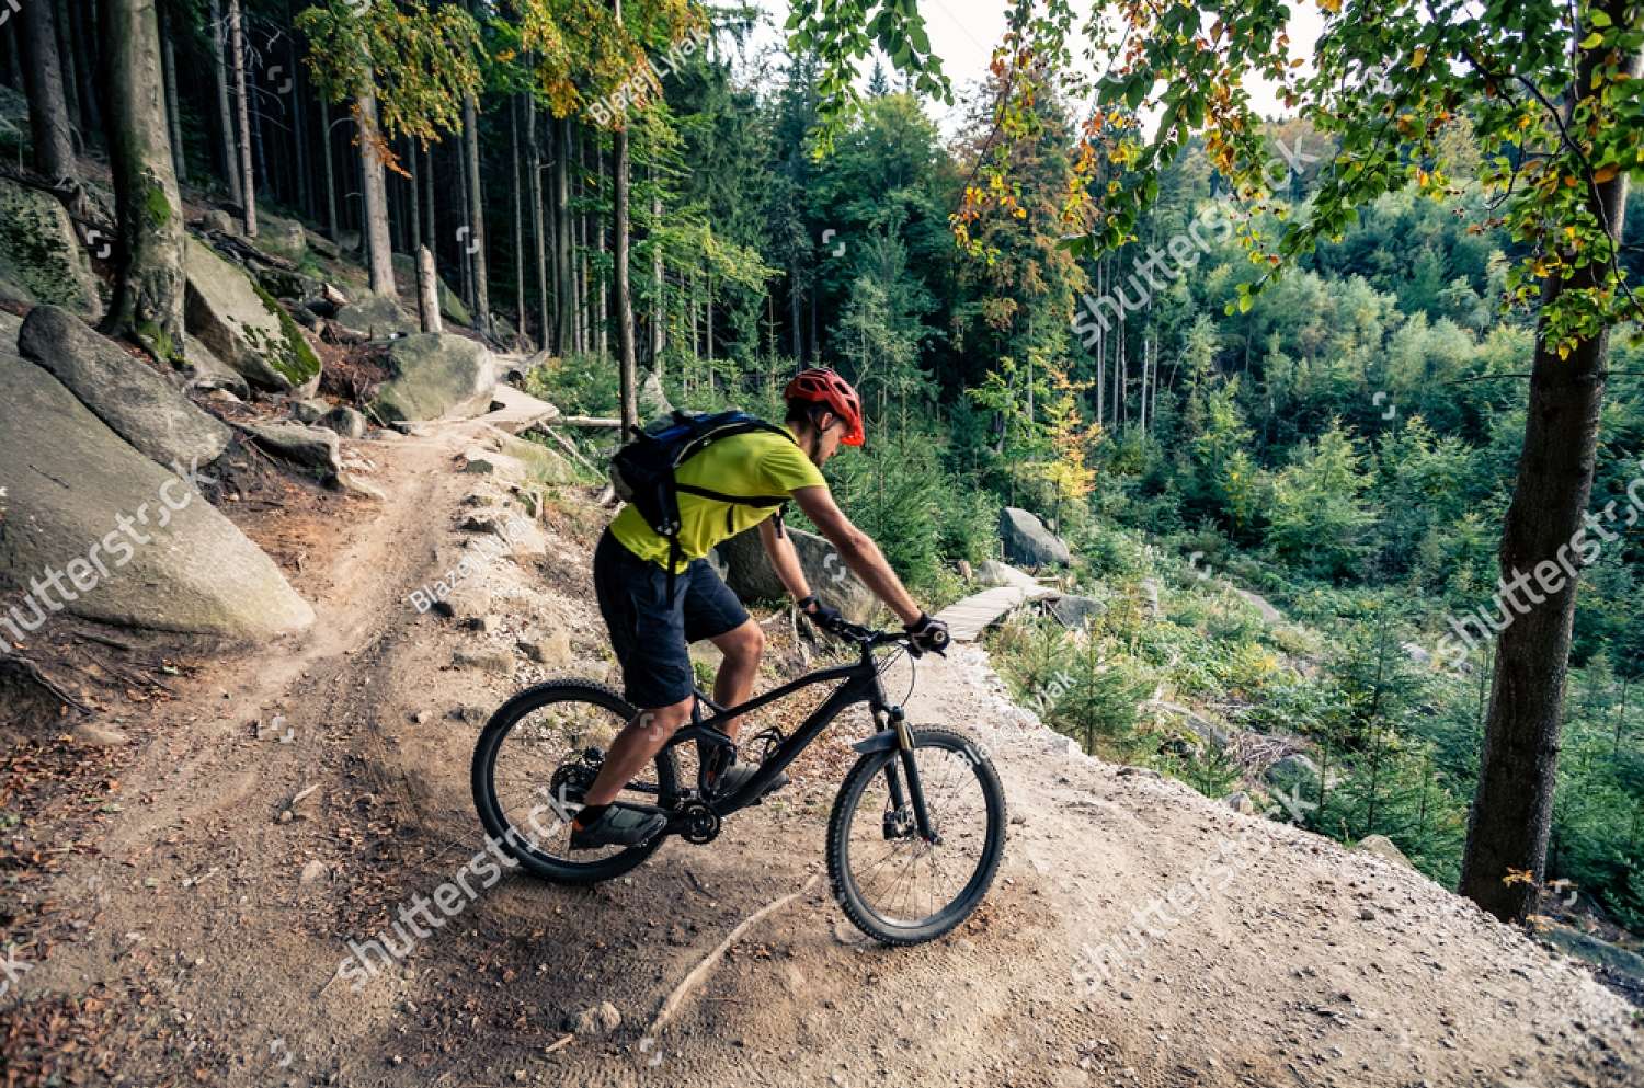
[[[258,388],[286,393],[319,380],[319,357],[302,330],[243,268],[192,237],[186,261],[189,335]]]

